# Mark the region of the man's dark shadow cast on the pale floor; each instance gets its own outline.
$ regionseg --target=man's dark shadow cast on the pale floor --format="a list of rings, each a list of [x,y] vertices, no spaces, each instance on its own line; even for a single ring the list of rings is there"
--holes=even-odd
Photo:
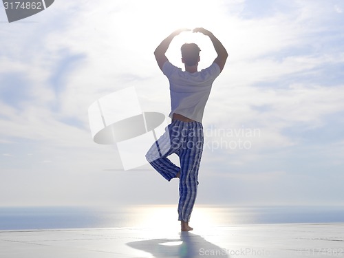
[[[229,257],[226,249],[206,241],[200,235],[180,233],[179,239],[151,239],[127,243],[128,246],[151,253],[156,258],[166,257]]]

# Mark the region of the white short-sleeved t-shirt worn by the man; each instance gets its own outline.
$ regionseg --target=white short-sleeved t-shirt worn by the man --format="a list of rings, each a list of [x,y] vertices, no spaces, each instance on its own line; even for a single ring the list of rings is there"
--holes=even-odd
[[[204,107],[211,93],[211,86],[221,69],[213,63],[206,69],[193,74],[184,72],[169,61],[162,65],[162,72],[169,79],[171,113],[180,114],[197,122],[202,122]]]

